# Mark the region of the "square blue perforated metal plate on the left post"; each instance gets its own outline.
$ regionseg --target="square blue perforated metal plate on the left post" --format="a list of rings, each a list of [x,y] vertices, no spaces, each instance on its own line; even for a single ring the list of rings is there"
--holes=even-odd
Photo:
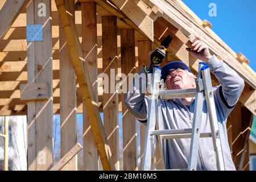
[[[43,41],[43,24],[27,25],[27,41]]]

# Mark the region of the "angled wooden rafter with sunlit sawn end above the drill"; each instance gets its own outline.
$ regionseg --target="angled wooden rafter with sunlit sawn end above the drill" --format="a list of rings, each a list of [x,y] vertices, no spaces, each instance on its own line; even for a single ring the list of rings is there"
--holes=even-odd
[[[133,1],[112,0],[115,6],[118,7],[139,29],[154,41],[153,20],[144,11],[142,11]]]

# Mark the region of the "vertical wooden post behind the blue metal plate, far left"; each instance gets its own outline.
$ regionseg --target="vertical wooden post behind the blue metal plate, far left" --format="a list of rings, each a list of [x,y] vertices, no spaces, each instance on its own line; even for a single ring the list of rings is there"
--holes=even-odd
[[[39,5],[40,4],[40,5]],[[47,170],[52,165],[52,28],[51,1],[32,0],[27,24],[43,24],[43,41],[27,43],[28,84],[47,82],[46,101],[28,102],[28,169]]]

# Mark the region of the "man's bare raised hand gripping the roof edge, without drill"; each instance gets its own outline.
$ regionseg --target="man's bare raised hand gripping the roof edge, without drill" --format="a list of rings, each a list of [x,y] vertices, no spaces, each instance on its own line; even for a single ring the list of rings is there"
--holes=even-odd
[[[186,48],[186,50],[196,57],[196,59],[207,62],[212,57],[209,48],[207,44],[203,43],[200,36],[196,36],[196,38],[197,40],[192,44],[192,47]]]

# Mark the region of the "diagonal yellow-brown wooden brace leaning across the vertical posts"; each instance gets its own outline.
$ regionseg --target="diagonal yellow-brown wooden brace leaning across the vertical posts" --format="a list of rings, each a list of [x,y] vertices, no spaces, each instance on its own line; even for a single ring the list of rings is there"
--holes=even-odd
[[[67,3],[63,0],[55,0],[55,2],[64,29],[65,38],[67,39],[69,54],[71,56],[73,67],[75,68],[77,81],[80,86],[90,126],[92,127],[93,136],[97,143],[98,154],[100,155],[102,166],[105,170],[114,170],[112,152],[110,151],[108,141],[106,140],[106,134],[98,111],[98,105],[93,102],[95,96],[92,85],[90,85],[89,69],[87,68],[84,58],[82,58],[82,48],[75,29],[75,23],[67,15]]]

